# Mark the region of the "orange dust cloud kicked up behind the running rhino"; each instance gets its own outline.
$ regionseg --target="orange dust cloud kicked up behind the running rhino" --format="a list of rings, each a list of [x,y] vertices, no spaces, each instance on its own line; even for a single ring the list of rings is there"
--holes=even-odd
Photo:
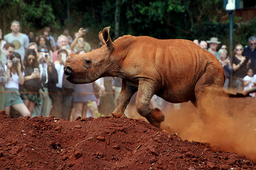
[[[177,111],[163,111],[166,117],[161,129],[176,132],[183,140],[207,142],[256,160],[255,99],[208,92],[198,108],[190,102],[181,106]]]

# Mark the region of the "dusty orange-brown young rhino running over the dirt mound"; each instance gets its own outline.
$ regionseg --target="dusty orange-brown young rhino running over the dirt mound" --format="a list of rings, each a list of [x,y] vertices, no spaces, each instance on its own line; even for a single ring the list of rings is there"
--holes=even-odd
[[[122,78],[113,113],[124,116],[130,98],[138,90],[138,113],[159,128],[164,115],[160,109],[149,107],[154,94],[171,103],[190,100],[196,105],[205,87],[224,85],[225,72],[220,62],[192,41],[125,35],[112,42],[109,30],[106,27],[99,33],[101,48],[69,55],[64,70],[67,80],[74,84],[106,76]]]

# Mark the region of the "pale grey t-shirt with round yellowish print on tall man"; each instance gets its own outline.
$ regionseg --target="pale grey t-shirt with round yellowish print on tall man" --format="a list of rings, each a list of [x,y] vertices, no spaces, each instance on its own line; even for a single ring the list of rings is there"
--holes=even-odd
[[[6,34],[4,40],[15,45],[15,52],[19,53],[22,61],[25,57],[25,48],[28,48],[29,38],[27,35],[20,33],[19,36],[15,37],[12,33]]]

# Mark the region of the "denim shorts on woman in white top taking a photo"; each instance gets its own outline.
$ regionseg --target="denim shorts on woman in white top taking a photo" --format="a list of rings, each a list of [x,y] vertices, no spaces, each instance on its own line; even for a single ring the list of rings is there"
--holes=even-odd
[[[15,104],[24,103],[20,98],[19,90],[15,88],[5,88],[4,94],[4,107],[12,106]]]

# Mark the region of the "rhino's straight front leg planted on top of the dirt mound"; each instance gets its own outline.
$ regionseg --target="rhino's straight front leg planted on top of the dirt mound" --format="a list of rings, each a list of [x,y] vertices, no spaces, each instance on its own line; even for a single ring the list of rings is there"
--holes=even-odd
[[[125,116],[124,111],[126,106],[130,102],[132,95],[138,90],[137,87],[131,86],[124,79],[122,80],[122,88],[120,94],[116,101],[116,108],[113,113],[120,114],[120,116]]]

